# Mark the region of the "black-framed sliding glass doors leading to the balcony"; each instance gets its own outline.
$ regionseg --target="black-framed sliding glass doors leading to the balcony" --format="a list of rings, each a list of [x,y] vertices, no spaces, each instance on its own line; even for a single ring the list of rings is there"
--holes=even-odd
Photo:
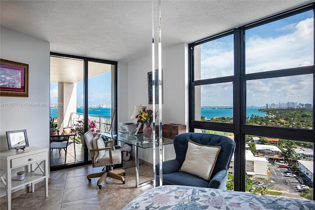
[[[50,117],[57,122],[57,135],[75,134],[66,153],[51,150],[52,170],[87,164],[84,132],[116,127],[116,74],[117,62],[51,53]]]

